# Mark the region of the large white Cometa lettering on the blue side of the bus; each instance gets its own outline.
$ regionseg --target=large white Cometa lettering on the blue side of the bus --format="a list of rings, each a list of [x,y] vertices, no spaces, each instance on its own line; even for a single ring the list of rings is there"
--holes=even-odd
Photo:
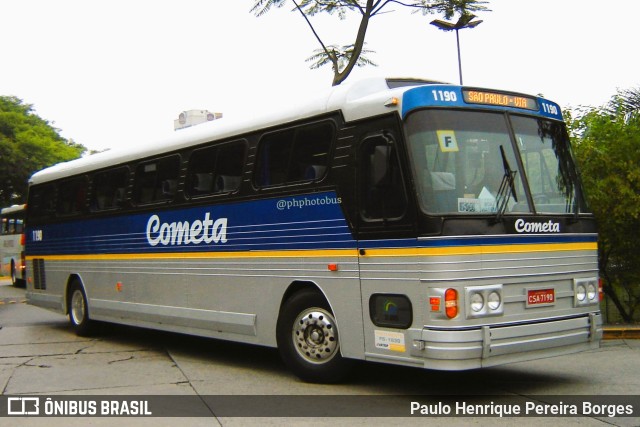
[[[203,220],[168,223],[152,215],[147,221],[147,241],[151,246],[227,243],[227,218],[213,221],[207,212]]]

